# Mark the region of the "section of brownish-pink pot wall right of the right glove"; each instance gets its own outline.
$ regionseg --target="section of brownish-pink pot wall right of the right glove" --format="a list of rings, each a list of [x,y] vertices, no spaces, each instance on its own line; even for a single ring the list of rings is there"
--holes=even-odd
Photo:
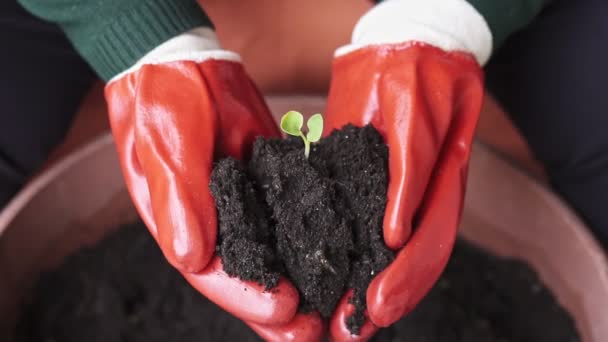
[[[473,150],[460,236],[528,263],[583,341],[608,341],[608,260],[599,242],[546,185],[483,144]]]

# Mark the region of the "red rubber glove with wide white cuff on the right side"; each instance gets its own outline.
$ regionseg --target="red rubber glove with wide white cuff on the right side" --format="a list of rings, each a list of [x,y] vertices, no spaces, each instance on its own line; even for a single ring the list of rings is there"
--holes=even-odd
[[[337,51],[325,134],[371,123],[383,135],[389,147],[383,232],[398,252],[367,289],[360,335],[345,324],[354,310],[349,292],[330,322],[333,340],[366,340],[391,325],[443,271],[483,99],[480,65],[490,51],[485,21],[463,0],[386,1],[360,19],[353,44]]]

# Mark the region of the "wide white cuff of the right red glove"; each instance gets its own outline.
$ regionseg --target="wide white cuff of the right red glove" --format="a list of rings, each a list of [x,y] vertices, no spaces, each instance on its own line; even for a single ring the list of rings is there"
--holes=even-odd
[[[470,53],[480,65],[492,52],[490,28],[466,0],[386,0],[359,19],[352,43],[336,50],[335,56],[369,45],[407,41]]]

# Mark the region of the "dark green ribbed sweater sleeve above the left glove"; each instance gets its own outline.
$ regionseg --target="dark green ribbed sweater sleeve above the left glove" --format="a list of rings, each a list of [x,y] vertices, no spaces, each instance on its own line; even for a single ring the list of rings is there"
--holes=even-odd
[[[196,0],[19,0],[56,23],[104,80],[128,69],[163,42],[211,27]]]

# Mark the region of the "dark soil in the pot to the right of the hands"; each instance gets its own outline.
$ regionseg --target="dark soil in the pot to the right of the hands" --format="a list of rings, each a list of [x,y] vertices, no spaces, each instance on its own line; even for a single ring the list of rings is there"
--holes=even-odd
[[[578,342],[571,317],[526,264],[464,241],[433,290],[376,342]]]

